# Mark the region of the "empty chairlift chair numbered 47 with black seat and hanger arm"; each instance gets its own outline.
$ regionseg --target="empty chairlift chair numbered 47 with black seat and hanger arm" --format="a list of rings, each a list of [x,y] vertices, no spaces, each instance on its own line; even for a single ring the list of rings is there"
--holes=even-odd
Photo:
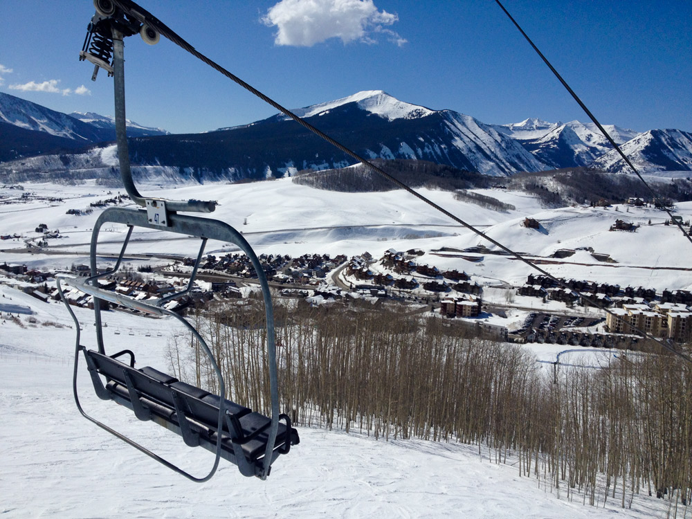
[[[273,307],[266,276],[250,244],[235,228],[216,219],[180,214],[181,212],[212,212],[215,210],[215,202],[154,199],[143,197],[138,192],[131,175],[125,130],[122,39],[129,35],[140,34],[145,42],[155,44],[158,41],[158,33],[152,25],[161,26],[161,22],[130,0],[94,0],[93,3],[96,13],[89,24],[80,60],[89,60],[95,65],[93,80],[100,68],[106,69],[109,75],[113,75],[120,174],[130,198],[143,208],[113,207],[104,210],[98,217],[91,235],[91,275],[89,277],[57,276],[57,289],[75,321],[77,331],[73,372],[75,402],[86,419],[192,481],[209,480],[217,470],[221,458],[237,465],[242,475],[256,476],[264,480],[269,475],[271,464],[275,459],[288,453],[291,446],[300,441],[298,432],[291,427],[291,419],[279,411]],[[152,21],[155,24],[152,24]],[[113,59],[109,63],[111,54]],[[127,226],[128,230],[115,266],[107,272],[98,273],[96,266],[98,235],[106,224],[108,224],[107,229],[111,227],[111,224],[122,224]],[[185,289],[156,300],[140,301],[98,286],[100,278],[118,271],[134,228],[166,230],[170,233],[201,239],[197,260]],[[267,370],[271,395],[271,416],[269,417],[225,398],[226,381],[205,340],[190,322],[165,308],[165,304],[181,298],[192,290],[204,248],[209,239],[237,245],[251,260],[260,281],[266,316]],[[89,349],[81,344],[80,331],[83,327],[65,297],[62,288],[64,285],[93,297],[95,349]],[[133,316],[136,311],[139,315],[167,316],[181,322],[206,354],[217,377],[219,394],[211,394],[184,381],[179,381],[176,377],[156,370],[154,367],[136,367],[135,354],[131,349],[107,354],[103,340],[102,301],[125,307],[133,311]],[[119,330],[116,330],[115,334],[119,334]],[[134,335],[134,331],[129,331],[129,335]],[[146,336],[150,335],[147,332]],[[160,333],[157,335],[161,336]],[[144,342],[146,343],[147,339],[144,339]],[[102,424],[98,419],[87,415],[80,403],[77,384],[78,367],[82,357],[89,370],[93,389],[100,399],[113,400],[132,410],[138,419],[154,421],[176,432],[187,446],[201,446],[210,450],[215,454],[215,460],[209,473],[203,477],[194,476],[110,426]]]

